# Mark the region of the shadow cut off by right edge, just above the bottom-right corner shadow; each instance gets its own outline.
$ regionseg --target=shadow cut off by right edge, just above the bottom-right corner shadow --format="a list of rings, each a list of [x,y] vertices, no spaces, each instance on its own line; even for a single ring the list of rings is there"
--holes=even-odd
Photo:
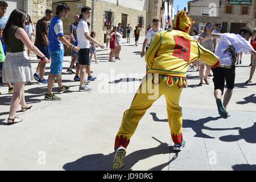
[[[226,135],[220,137],[220,140],[224,142],[235,142],[241,139],[244,139],[247,143],[256,143],[256,122],[253,126],[247,127],[246,129],[240,128],[239,135]]]

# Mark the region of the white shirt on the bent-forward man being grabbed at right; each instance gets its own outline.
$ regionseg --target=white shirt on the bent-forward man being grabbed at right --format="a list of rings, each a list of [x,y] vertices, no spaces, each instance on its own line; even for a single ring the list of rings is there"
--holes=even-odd
[[[215,54],[220,57],[220,62],[222,65],[230,66],[232,65],[232,55],[230,52],[226,52],[226,49],[232,45],[234,46],[237,53],[244,52],[249,53],[253,51],[251,44],[245,40],[240,34],[219,34],[221,36],[221,41],[218,44],[218,48]]]

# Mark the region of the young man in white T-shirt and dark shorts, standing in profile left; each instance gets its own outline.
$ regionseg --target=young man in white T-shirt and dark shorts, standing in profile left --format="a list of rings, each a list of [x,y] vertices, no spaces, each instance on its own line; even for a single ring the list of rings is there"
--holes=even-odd
[[[79,25],[77,26],[77,40],[78,40],[77,47],[80,48],[80,51],[78,52],[78,55],[79,55],[78,61],[81,66],[80,67],[79,91],[86,92],[86,91],[92,90],[92,89],[88,88],[87,86],[85,86],[85,84],[84,84],[85,69],[86,69],[86,67],[88,67],[90,65],[90,56],[89,56],[90,42],[97,44],[98,47],[100,47],[102,49],[104,49],[105,47],[90,37],[87,20],[92,15],[92,9],[90,9],[90,7],[88,7],[88,6],[82,7],[81,13],[82,13],[82,19],[80,20]]]

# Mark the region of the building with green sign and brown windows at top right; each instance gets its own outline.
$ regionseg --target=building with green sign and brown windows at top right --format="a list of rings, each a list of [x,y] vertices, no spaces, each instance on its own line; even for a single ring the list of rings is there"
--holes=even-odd
[[[207,22],[221,22],[222,32],[237,34],[241,27],[253,30],[256,25],[254,0],[195,0],[188,2],[188,11],[199,30],[203,30]]]

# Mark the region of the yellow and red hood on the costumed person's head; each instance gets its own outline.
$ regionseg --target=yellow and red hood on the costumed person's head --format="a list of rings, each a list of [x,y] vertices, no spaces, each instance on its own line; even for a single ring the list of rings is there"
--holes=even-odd
[[[173,29],[183,31],[188,34],[193,23],[195,22],[187,16],[187,12],[182,10],[175,16]]]

